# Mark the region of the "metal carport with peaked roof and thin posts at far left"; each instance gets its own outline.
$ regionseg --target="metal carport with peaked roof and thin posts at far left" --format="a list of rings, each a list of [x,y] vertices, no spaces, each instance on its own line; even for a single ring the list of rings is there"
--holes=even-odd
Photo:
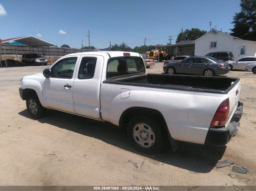
[[[53,46],[54,60],[56,60],[56,58],[55,58],[55,49],[54,49],[55,44],[48,43],[48,42],[46,42],[44,40],[38,39],[38,38],[33,37],[33,36],[16,37],[16,38],[0,40],[0,43],[1,44],[2,43],[7,43],[7,42],[9,42],[11,40],[19,42],[19,43],[22,43],[22,44],[25,44],[25,45],[28,45],[29,49],[30,49],[30,47],[48,46],[48,54],[49,54],[49,62],[50,62],[50,64],[51,64],[51,59],[50,59],[49,46]],[[4,55],[5,55],[5,45],[4,44],[2,44],[2,45],[4,47]],[[1,51],[1,49],[0,49],[0,51]],[[34,49],[33,49],[33,52],[34,52]],[[16,53],[16,57],[18,57],[17,53]],[[17,58],[17,60],[18,60],[18,58]],[[1,68],[2,68],[2,53],[1,52],[0,52],[0,65],[1,65]],[[6,59],[5,59],[5,67],[7,68]]]

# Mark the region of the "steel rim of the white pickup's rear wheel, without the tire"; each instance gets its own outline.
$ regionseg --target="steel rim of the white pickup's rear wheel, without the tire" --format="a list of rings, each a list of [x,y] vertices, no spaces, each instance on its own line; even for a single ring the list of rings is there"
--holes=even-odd
[[[145,123],[138,123],[133,127],[133,138],[135,142],[144,148],[150,148],[155,143],[155,133]]]

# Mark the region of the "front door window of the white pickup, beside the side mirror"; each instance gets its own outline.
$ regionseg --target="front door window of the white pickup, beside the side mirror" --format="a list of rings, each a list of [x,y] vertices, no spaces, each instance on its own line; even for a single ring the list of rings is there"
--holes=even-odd
[[[71,79],[74,73],[77,57],[64,58],[58,61],[52,68],[51,78]]]

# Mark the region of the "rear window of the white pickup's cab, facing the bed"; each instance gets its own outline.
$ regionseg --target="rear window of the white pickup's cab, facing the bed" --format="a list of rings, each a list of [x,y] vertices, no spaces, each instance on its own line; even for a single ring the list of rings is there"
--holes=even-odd
[[[145,73],[145,65],[141,57],[114,57],[108,60],[106,78],[140,72]]]

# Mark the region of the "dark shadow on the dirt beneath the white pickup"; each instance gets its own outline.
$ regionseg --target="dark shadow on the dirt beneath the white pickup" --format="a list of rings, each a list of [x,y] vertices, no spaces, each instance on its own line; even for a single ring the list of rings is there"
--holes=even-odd
[[[18,114],[33,119],[28,114],[27,110],[23,110]],[[178,150],[175,153],[173,153],[170,146],[167,145],[160,154],[149,155],[143,154],[131,146],[126,135],[126,128],[118,127],[110,123],[101,123],[56,110],[48,110],[46,117],[34,120],[58,128],[67,129],[81,135],[97,138],[121,149],[197,173],[210,172],[215,164],[222,158],[226,150],[226,146],[215,148],[188,142],[178,142]],[[156,164],[157,163],[158,162],[156,162]]]

